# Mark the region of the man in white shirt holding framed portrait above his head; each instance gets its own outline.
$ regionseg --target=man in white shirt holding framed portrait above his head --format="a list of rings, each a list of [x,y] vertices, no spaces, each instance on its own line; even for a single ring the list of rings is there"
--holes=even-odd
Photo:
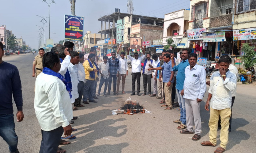
[[[132,58],[129,53],[130,53],[130,48],[127,50],[127,57],[131,60],[132,63],[132,94],[135,95],[135,81],[137,80],[137,95],[140,96],[140,76],[141,76],[141,62],[142,60],[146,57],[145,56],[145,50],[146,46],[142,48],[142,56],[139,58],[138,52],[135,52],[134,58]]]

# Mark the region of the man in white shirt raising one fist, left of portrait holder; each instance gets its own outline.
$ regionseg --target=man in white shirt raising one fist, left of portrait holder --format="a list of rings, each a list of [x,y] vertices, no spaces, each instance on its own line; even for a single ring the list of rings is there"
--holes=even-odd
[[[117,49],[116,56],[119,60],[119,75],[117,78],[117,85],[116,85],[116,93],[119,92],[119,85],[122,78],[122,94],[125,94],[124,92],[124,85],[125,85],[125,78],[128,75],[128,66],[127,66],[127,59],[124,58],[125,53],[121,52],[121,56],[119,55],[119,51],[121,48],[121,44],[119,44],[119,48]]]

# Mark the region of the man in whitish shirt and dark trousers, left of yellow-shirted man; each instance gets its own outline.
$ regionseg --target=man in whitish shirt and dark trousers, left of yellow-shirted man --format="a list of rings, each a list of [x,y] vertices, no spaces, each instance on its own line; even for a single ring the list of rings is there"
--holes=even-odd
[[[84,78],[85,78],[85,72],[84,72],[84,67],[83,67],[84,54],[80,53],[79,58],[80,58],[79,63],[75,65],[76,68],[78,69],[78,78],[79,78],[78,99],[77,99],[77,101],[75,101],[75,106],[76,107],[84,107],[84,105],[81,105],[81,100],[83,97]]]

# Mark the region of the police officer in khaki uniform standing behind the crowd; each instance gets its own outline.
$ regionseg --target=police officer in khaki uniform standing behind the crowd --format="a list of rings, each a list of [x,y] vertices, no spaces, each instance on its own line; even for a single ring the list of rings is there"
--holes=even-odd
[[[35,56],[33,61],[33,77],[37,77],[43,71],[43,56],[45,54],[44,48],[39,48],[39,55]]]

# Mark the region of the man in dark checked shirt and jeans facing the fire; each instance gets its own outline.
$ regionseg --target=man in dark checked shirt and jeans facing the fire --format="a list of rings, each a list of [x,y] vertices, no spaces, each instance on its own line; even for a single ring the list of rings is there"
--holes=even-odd
[[[106,95],[110,95],[110,90],[111,90],[111,84],[112,84],[112,78],[113,78],[113,92],[114,95],[118,95],[116,93],[116,79],[118,78],[119,74],[119,60],[116,58],[116,52],[111,53],[111,58],[108,59],[109,63],[109,92],[106,93]]]

